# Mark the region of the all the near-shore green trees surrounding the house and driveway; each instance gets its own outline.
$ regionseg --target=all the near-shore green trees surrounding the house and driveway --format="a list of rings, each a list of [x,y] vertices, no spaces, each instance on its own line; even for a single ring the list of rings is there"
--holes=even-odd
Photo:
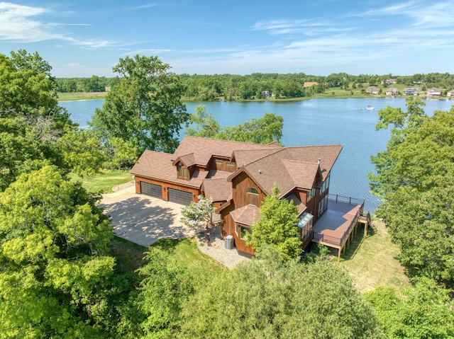
[[[151,247],[136,272],[124,270],[99,195],[69,173],[173,151],[189,122],[194,135],[279,140],[282,117],[221,127],[203,107],[189,115],[181,77],[137,55],[120,59],[118,84],[80,130],[58,106],[50,71],[36,52],[0,54],[0,338],[454,337],[454,110],[428,117],[410,98],[407,112],[380,111],[377,128],[392,126],[392,138],[372,158],[372,188],[414,287],[361,295],[323,255],[301,256],[294,208],[277,193],[250,238],[258,260],[207,274]],[[275,219],[287,205],[293,211]],[[282,243],[267,231],[281,219]]]

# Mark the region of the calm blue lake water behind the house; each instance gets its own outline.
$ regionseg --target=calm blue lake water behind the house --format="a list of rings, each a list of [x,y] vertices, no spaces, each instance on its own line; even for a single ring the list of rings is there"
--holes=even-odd
[[[104,100],[61,101],[72,121],[87,127],[95,108]],[[426,100],[424,110],[431,115],[436,110],[450,110],[453,101]],[[389,131],[375,131],[377,110],[387,105],[405,108],[404,98],[312,99],[303,101],[205,102],[187,103],[194,113],[196,105],[205,105],[221,126],[238,125],[251,117],[267,112],[284,117],[282,144],[305,146],[343,144],[341,155],[331,174],[330,193],[365,200],[365,209],[374,211],[379,202],[369,191],[367,173],[374,171],[370,156],[386,149]],[[372,105],[375,110],[365,110]],[[361,108],[360,110],[358,108]],[[182,136],[184,131],[182,131]]]

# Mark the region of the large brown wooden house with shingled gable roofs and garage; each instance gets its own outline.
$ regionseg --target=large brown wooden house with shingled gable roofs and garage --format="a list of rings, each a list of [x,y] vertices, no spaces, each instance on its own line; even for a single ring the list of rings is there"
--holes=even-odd
[[[144,151],[131,173],[139,194],[184,205],[196,202],[200,194],[212,197],[221,217],[221,236],[232,235],[238,251],[252,255],[254,249],[246,246],[245,234],[258,221],[258,207],[272,194],[274,185],[282,199],[297,206],[303,246],[314,241],[313,226],[328,208],[331,168],[342,147],[283,147],[184,137],[174,154]],[[341,219],[345,222],[345,217]],[[348,227],[342,229],[341,244],[333,245],[339,255],[352,231]],[[318,234],[321,238],[315,241],[330,246],[323,230]]]

